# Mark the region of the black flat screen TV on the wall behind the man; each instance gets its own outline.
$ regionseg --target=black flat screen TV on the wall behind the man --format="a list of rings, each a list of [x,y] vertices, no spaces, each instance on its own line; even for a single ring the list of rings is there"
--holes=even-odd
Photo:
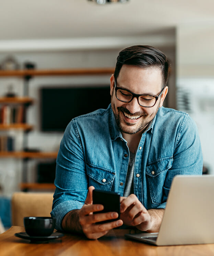
[[[41,87],[41,131],[63,132],[72,118],[107,108],[111,102],[110,86]]]

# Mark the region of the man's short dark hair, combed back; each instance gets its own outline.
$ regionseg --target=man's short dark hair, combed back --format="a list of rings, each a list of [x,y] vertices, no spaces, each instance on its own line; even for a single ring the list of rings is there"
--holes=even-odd
[[[148,45],[134,45],[122,50],[115,67],[115,79],[120,73],[122,65],[134,65],[142,68],[160,68],[162,72],[162,86],[165,87],[169,77],[170,62],[166,55],[158,49]]]

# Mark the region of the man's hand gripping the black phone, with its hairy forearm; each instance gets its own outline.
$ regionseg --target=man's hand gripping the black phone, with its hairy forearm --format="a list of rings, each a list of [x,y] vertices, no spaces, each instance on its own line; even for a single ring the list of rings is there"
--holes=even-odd
[[[109,230],[115,227],[119,227],[123,224],[122,220],[112,221],[109,223],[99,224],[100,221],[114,220],[118,217],[117,212],[108,213],[97,213],[102,211],[104,206],[102,204],[93,204],[92,191],[93,186],[88,188],[87,198],[85,204],[80,210],[74,210],[66,214],[62,220],[62,227],[66,231],[78,231],[82,232],[89,239],[97,239],[108,233]],[[73,217],[75,214],[76,217]],[[72,219],[72,222],[70,221]],[[79,222],[79,224],[74,224],[74,222]],[[76,228],[78,227],[79,228]]]

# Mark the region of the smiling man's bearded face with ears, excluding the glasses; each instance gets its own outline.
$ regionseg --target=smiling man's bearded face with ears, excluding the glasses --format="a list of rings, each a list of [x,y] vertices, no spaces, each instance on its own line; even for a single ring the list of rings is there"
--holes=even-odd
[[[158,108],[163,105],[168,87],[165,87],[162,96],[153,107],[146,108],[138,104],[137,98],[133,98],[129,103],[118,100],[114,89],[114,75],[111,76],[110,81],[111,107],[121,132],[135,134],[145,131],[155,117]],[[162,73],[159,68],[123,65],[117,78],[117,86],[135,94],[157,96],[162,90]]]

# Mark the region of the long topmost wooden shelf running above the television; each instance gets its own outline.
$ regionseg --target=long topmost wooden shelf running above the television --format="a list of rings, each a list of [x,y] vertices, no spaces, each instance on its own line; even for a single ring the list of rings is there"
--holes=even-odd
[[[66,76],[66,75],[108,75],[115,68],[72,68],[62,70],[0,70],[0,76]]]

